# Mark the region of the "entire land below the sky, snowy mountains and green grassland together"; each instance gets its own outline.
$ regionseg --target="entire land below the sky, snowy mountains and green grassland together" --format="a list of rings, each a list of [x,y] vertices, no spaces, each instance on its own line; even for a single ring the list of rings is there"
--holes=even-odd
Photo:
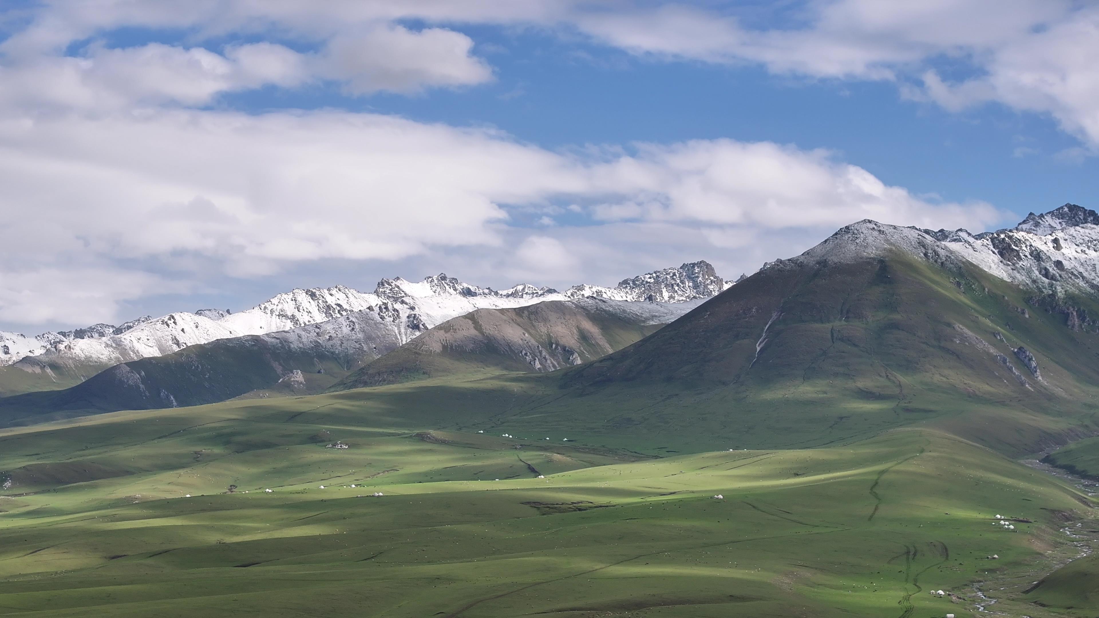
[[[1099,613],[1079,206],[3,336],[0,616]]]

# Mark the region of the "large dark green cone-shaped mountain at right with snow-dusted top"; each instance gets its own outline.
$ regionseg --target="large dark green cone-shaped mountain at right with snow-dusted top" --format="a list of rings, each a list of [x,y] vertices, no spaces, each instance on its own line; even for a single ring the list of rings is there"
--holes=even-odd
[[[1040,450],[1091,431],[1099,384],[1099,335],[1069,319],[1099,314],[1095,301],[1043,298],[922,232],[859,223],[567,369],[559,398],[508,422],[568,418],[577,433],[730,448],[933,422],[1004,452]]]

